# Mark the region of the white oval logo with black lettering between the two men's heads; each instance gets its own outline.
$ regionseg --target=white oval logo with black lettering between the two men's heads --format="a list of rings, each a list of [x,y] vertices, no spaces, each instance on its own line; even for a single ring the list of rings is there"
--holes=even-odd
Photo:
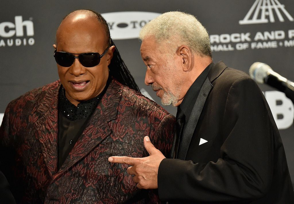
[[[108,23],[113,40],[138,38],[141,28],[160,13],[144,11],[122,11],[101,14]]]

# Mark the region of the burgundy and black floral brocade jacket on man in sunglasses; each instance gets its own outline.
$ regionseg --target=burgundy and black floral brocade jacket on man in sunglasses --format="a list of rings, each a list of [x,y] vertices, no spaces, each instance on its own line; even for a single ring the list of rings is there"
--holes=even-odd
[[[2,171],[17,203],[124,203],[138,195],[126,164],[108,157],[148,156],[144,136],[167,155],[174,117],[155,102],[113,80],[79,140],[57,170],[56,81],[34,89],[6,108],[0,129]],[[149,191],[140,202],[157,203]]]

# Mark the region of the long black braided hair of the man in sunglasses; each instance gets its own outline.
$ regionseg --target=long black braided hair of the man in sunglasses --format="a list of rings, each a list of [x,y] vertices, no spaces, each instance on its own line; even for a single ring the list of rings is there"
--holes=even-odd
[[[83,9],[83,10],[84,11],[90,11],[93,14],[96,15],[98,21],[102,24],[102,26],[104,27],[104,29],[106,31],[106,37],[107,37],[107,41],[108,41],[108,46],[113,46],[114,42],[112,41],[112,39],[110,37],[110,31],[109,31],[109,27],[108,27],[108,24],[107,24],[106,20],[101,16],[101,14],[97,13],[96,11],[93,11],[93,10],[90,10],[90,9]],[[78,11],[78,10],[75,10],[75,11]],[[74,12],[74,11],[72,11],[72,12]],[[71,14],[71,13],[69,13],[69,14]],[[67,14],[64,17],[64,19],[69,14]],[[108,69],[109,69],[109,74],[113,78],[115,78],[118,82],[120,82],[123,85],[126,85],[126,86],[140,92],[138,85],[136,84],[136,82],[135,82],[133,76],[131,75],[130,71],[128,70],[126,64],[121,59],[121,55],[119,54],[116,47],[115,47],[115,50],[113,52],[113,57],[111,59],[111,62],[108,65]]]

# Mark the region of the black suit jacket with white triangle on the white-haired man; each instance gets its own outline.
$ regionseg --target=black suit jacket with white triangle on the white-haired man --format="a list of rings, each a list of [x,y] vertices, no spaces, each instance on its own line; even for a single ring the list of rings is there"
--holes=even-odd
[[[204,140],[208,141],[203,144]],[[285,151],[270,108],[250,77],[211,68],[185,126],[179,159],[158,170],[162,200],[293,203]]]

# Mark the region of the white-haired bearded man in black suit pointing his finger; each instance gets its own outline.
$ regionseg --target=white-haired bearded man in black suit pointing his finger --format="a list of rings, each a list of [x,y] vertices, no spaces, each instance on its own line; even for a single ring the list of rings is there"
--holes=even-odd
[[[130,164],[139,188],[172,202],[293,203],[285,151],[258,85],[212,61],[206,29],[192,15],[167,12],[140,32],[145,83],[164,105],[178,107],[174,159],[148,137],[145,158]]]

